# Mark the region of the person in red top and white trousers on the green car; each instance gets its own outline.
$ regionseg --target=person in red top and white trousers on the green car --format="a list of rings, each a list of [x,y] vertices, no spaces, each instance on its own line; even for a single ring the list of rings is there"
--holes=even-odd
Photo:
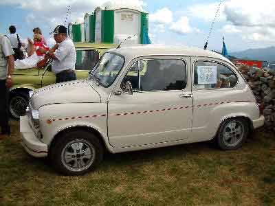
[[[34,34],[34,43],[31,44],[31,51],[28,58],[25,58],[23,60],[16,60],[14,62],[14,68],[15,69],[28,69],[32,67],[36,67],[37,63],[42,60],[45,56],[45,54],[42,54],[39,52],[39,49],[46,49],[49,50],[50,48],[44,45],[41,42],[41,35],[40,34]],[[30,43],[31,41],[29,41]]]

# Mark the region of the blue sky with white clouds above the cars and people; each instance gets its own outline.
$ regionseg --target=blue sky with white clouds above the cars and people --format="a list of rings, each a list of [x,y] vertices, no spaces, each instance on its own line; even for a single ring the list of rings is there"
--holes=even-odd
[[[129,1],[129,0],[111,0]],[[65,22],[84,21],[87,12],[105,0],[1,0],[0,33],[15,25],[22,38],[32,38],[32,29],[41,27],[46,39],[50,31]],[[217,12],[219,0],[131,0],[149,14],[152,43],[203,48]],[[221,51],[222,38],[228,53],[250,48],[275,46],[274,0],[221,0],[208,49]],[[51,39],[51,40],[50,40]],[[51,42],[52,43],[52,42]]]

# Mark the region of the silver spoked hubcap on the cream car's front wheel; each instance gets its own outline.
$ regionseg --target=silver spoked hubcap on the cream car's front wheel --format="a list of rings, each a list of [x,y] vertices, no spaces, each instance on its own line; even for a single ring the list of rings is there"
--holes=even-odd
[[[87,170],[94,162],[96,150],[84,139],[70,141],[61,152],[61,161],[73,172]]]

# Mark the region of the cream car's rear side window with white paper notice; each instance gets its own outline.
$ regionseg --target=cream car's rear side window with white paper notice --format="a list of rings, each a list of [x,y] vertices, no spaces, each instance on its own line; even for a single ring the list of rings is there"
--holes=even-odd
[[[237,82],[236,74],[229,67],[217,62],[195,62],[194,83],[199,89],[233,88]]]

